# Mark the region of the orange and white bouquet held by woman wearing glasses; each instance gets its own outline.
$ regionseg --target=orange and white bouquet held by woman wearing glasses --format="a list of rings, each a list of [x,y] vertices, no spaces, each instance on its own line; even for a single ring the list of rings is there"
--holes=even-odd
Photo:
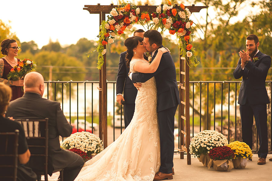
[[[10,72],[7,75],[8,80],[21,80],[24,76],[31,71],[36,69],[36,65],[30,59],[24,59],[18,61],[18,64],[11,68]]]

